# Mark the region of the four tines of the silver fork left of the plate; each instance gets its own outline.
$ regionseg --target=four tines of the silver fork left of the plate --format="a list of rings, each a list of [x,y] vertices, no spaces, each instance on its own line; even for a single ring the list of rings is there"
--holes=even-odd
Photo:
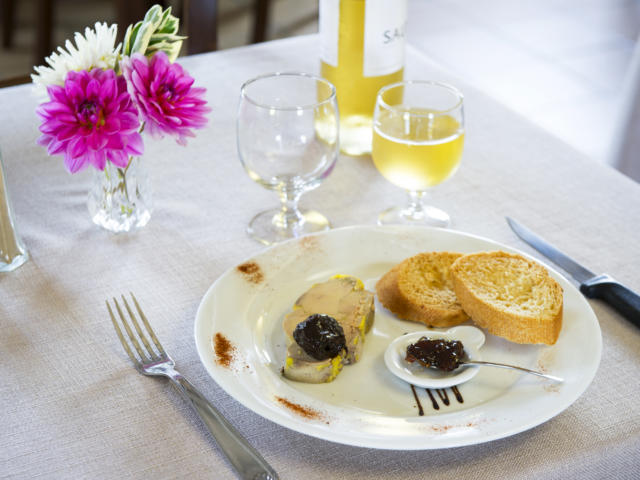
[[[125,351],[129,355],[129,358],[131,358],[131,360],[136,365],[136,367],[140,367],[141,366],[140,362],[145,364],[145,363],[150,363],[150,362],[158,360],[158,359],[162,359],[163,357],[166,358],[167,354],[164,351],[164,349],[162,348],[162,345],[158,341],[158,338],[156,337],[155,333],[153,333],[153,329],[151,328],[151,325],[149,325],[149,321],[147,320],[147,317],[142,312],[142,309],[140,308],[140,305],[138,304],[138,300],[136,300],[136,297],[133,295],[133,293],[129,292],[129,295],[131,295],[131,299],[133,300],[133,303],[134,303],[134,305],[136,307],[138,315],[142,319],[142,323],[144,324],[147,332],[149,333],[149,336],[151,337],[151,340],[153,341],[154,345],[156,346],[156,349],[157,349],[157,352],[158,352],[158,353],[156,353],[156,351],[154,351],[153,347],[151,346],[151,344],[147,340],[147,336],[145,335],[145,333],[142,330],[142,328],[140,328],[140,323],[138,322],[138,320],[136,318],[136,315],[134,314],[133,310],[129,306],[129,303],[127,302],[127,299],[124,297],[124,295],[121,295],[122,302],[124,303],[124,307],[125,307],[127,313],[129,314],[129,318],[131,319],[131,323],[133,323],[133,326],[134,326],[134,328],[135,328],[135,330],[137,332],[137,336],[133,332],[133,330],[131,329],[131,326],[129,325],[129,322],[127,321],[127,318],[124,315],[124,313],[122,312],[122,309],[120,308],[120,304],[118,303],[118,300],[116,300],[115,297],[113,297],[113,299],[112,299],[113,300],[113,304],[115,305],[116,311],[118,312],[118,316],[120,317],[120,321],[121,321],[122,325],[124,326],[124,329],[127,332],[127,335],[129,336],[129,339],[131,340],[131,343],[133,344],[135,350],[138,352],[138,355],[140,356],[140,359],[138,359],[135,356],[135,354],[133,353],[133,351],[132,351],[132,349],[131,349],[131,347],[129,345],[129,342],[125,339],[125,336],[123,335],[122,330],[120,329],[120,326],[118,325],[118,321],[116,320],[116,316],[113,314],[113,310],[111,309],[111,305],[109,304],[109,301],[107,300],[107,301],[105,301],[105,303],[107,304],[107,309],[109,310],[109,315],[111,316],[111,321],[113,322],[113,327],[115,328],[116,333],[118,334],[118,338],[120,339],[120,342],[122,343],[122,346],[124,347]],[[144,346],[146,348],[146,353],[143,350],[143,348],[141,347],[140,342],[138,341],[138,338],[144,344]]]

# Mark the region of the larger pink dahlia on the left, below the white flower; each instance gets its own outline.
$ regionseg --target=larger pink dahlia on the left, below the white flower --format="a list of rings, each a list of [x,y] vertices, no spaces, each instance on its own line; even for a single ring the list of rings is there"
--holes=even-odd
[[[38,143],[49,155],[64,155],[71,173],[107,161],[126,167],[129,155],[142,155],[140,121],[124,78],[113,70],[69,72],[64,87],[47,88],[49,102],[36,110],[42,118]]]

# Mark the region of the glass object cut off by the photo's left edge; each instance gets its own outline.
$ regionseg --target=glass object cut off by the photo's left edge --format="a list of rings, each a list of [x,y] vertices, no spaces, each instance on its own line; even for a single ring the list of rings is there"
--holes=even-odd
[[[15,228],[9,192],[0,156],[0,272],[10,272],[29,259]]]

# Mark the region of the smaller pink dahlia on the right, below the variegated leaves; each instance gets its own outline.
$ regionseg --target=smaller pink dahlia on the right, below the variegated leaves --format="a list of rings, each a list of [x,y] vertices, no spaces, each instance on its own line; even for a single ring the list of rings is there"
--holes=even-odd
[[[211,111],[204,100],[204,88],[195,88],[193,78],[166,53],[151,59],[140,53],[125,57],[121,63],[129,93],[138,106],[145,130],[152,137],[176,137],[186,145],[187,137],[195,137],[193,128],[207,123],[205,113]]]

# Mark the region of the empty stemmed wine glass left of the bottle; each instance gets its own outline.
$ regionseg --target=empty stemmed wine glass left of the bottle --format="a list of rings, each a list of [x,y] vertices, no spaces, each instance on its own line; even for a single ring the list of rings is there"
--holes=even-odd
[[[270,245],[329,229],[316,211],[302,212],[300,196],[320,185],[338,158],[335,87],[306,73],[272,73],[242,85],[237,138],[252,180],[275,190],[280,207],[256,215],[247,233]]]

